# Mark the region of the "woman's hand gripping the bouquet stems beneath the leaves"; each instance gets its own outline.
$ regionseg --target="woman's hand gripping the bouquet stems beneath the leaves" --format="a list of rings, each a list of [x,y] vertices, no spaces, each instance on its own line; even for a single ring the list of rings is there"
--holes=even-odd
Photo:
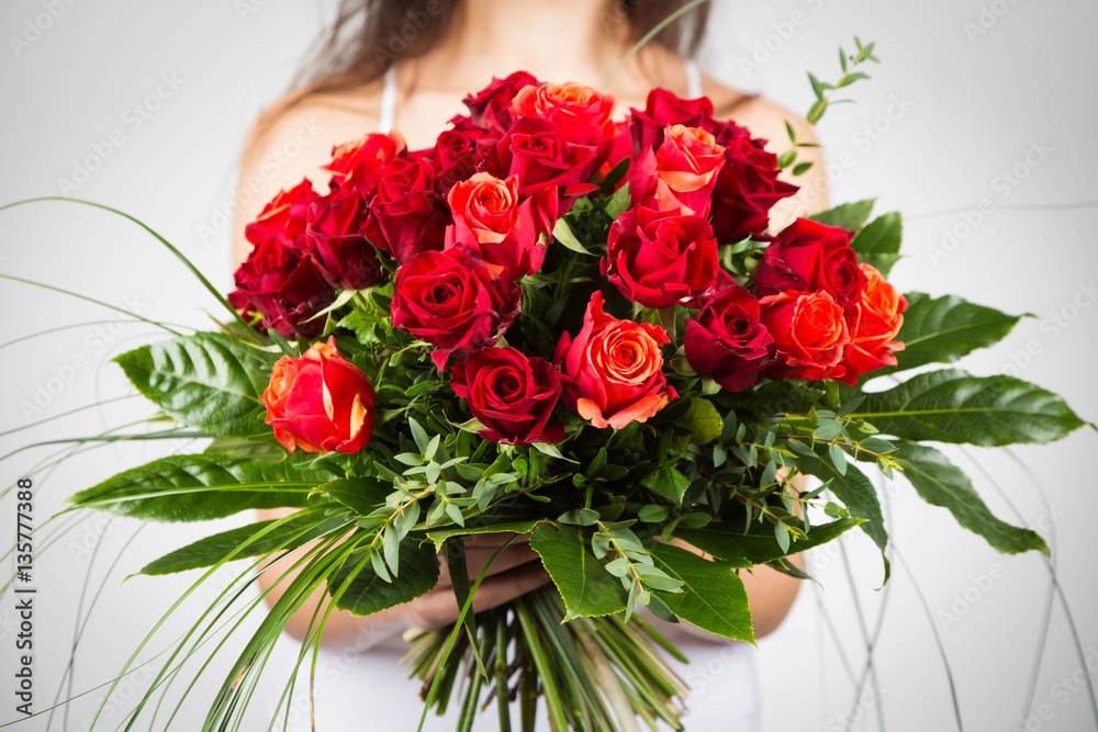
[[[477,581],[492,554],[513,536],[513,533],[482,533],[468,537],[463,544],[453,544],[451,551],[464,548],[470,585]],[[473,612],[503,605],[549,582],[549,573],[541,566],[541,560],[538,553],[530,549],[529,542],[529,534],[519,536],[495,558],[473,596]],[[445,551],[438,554],[442,571],[435,588],[399,606],[403,609],[403,618],[418,630],[433,630],[455,622],[461,612],[453,596]]]

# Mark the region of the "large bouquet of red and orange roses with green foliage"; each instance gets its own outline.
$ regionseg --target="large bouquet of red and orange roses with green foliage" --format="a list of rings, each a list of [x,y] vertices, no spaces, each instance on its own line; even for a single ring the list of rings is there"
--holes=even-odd
[[[836,83],[811,77],[811,123],[875,60],[861,43],[840,58]],[[677,651],[636,607],[753,642],[738,573],[803,576],[791,554],[854,527],[884,551],[864,469],[901,471],[1000,551],[1047,551],[928,442],[1045,442],[1084,423],[1008,376],[923,369],[863,390],[1018,317],[899,294],[900,219],[871,219],[872,201],[769,232],[797,190],[780,173],[807,165],[792,127],[775,156],[707,99],[657,89],[615,122],[609,95],[525,72],[464,102],[432,148],[395,132],[336,147],[327,192],[302,181],[248,225],[233,322],[116,359],[164,416],[215,439],[78,506],[158,521],[298,509],[143,570],[205,578],[250,559],[243,583],[264,565],[281,585],[204,729],[243,713],[317,588],[330,603],[302,658],[337,608],[408,601],[444,561],[462,615],[412,639],[427,708],[460,688],[460,729],[492,700],[511,729],[516,699],[533,729],[542,696],[557,730],[683,729],[687,689],[656,649]],[[552,584],[471,612],[483,572],[467,578],[462,542],[485,532],[530,534]]]

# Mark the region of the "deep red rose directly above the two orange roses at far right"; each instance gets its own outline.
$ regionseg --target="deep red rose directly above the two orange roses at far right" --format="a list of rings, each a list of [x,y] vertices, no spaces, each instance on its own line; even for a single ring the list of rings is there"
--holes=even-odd
[[[754,291],[760,297],[786,290],[825,290],[847,307],[858,301],[864,286],[865,274],[850,248],[850,233],[807,218],[798,218],[778,234],[755,270]]]

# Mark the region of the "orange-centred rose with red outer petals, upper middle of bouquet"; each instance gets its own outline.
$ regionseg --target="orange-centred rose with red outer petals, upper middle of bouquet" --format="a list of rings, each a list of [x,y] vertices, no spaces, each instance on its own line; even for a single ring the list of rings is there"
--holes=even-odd
[[[464,249],[483,261],[493,277],[519,280],[541,269],[548,236],[557,222],[557,191],[546,189],[523,200],[518,178],[500,180],[479,172],[450,189],[453,226],[446,249]]]

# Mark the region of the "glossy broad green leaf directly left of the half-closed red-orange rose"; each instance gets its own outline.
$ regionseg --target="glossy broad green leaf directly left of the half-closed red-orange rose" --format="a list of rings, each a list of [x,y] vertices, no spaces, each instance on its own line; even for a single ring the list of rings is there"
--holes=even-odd
[[[278,357],[216,333],[142,346],[114,359],[173,419],[223,437],[271,438],[259,395]]]

